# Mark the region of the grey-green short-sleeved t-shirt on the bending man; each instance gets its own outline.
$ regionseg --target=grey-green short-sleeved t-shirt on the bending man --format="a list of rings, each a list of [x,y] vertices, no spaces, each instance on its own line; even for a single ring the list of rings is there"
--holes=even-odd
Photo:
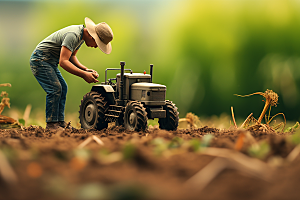
[[[36,49],[42,50],[44,54],[50,57],[50,60],[58,61],[62,46],[67,47],[72,52],[81,47],[84,42],[82,39],[83,29],[83,25],[72,25],[60,29],[41,41]]]

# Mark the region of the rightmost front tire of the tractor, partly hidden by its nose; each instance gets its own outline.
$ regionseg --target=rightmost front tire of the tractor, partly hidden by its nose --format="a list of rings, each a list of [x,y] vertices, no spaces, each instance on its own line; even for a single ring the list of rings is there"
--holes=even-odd
[[[172,101],[166,101],[166,105],[163,106],[163,109],[166,111],[166,118],[160,118],[158,120],[159,128],[175,131],[179,122],[177,107]]]

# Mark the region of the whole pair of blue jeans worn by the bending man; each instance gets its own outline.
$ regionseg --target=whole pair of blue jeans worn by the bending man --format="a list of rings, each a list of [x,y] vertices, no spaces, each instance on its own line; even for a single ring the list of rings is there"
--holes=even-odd
[[[34,50],[30,57],[30,68],[36,80],[47,93],[46,122],[64,121],[68,86],[58,67],[58,60],[41,50]]]

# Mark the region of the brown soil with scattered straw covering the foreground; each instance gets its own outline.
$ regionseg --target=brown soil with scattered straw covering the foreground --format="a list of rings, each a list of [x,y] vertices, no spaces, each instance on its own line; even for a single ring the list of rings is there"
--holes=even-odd
[[[295,148],[287,140],[291,133],[250,132],[270,147],[258,160],[247,140],[236,150],[242,132],[207,126],[0,130],[0,199],[298,199],[300,156],[288,162]],[[191,145],[197,141],[200,149]],[[234,164],[241,160],[250,164]]]

